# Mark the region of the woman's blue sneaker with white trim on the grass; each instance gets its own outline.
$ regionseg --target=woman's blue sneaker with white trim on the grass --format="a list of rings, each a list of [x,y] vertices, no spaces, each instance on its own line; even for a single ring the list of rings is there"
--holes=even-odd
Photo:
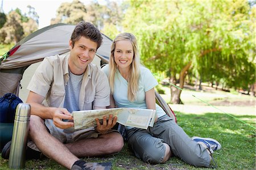
[[[197,143],[204,143],[207,146],[207,148],[210,150],[211,153],[221,149],[221,144],[215,139],[200,138],[197,136],[193,136],[191,139]]]

